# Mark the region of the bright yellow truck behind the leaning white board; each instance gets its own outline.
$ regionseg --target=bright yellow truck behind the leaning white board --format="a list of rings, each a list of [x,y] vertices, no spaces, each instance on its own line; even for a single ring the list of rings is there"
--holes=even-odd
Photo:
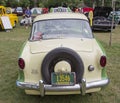
[[[10,23],[12,27],[15,27],[18,23],[18,16],[16,14],[12,13],[12,10],[10,8],[6,8],[4,6],[0,6],[0,17],[7,16],[10,19]],[[4,29],[2,21],[0,20],[0,28]]]

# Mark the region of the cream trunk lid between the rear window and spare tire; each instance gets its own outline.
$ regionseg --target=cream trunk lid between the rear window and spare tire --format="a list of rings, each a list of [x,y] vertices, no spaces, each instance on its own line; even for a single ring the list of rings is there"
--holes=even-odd
[[[55,48],[66,47],[77,52],[93,51],[94,39],[52,39],[29,42],[31,53],[45,53]]]

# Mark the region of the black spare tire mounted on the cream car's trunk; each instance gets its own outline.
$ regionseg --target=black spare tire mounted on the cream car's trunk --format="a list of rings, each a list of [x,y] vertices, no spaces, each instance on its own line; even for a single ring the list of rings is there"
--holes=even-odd
[[[71,65],[72,72],[76,73],[76,83],[81,83],[84,65],[81,57],[72,49],[61,47],[50,51],[42,62],[41,73],[44,83],[51,84],[51,73],[55,64],[65,60]]]

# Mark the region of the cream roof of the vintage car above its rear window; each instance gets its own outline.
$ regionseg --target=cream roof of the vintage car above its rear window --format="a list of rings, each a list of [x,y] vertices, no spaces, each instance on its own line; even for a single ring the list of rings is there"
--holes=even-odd
[[[34,22],[39,21],[39,20],[46,20],[46,19],[84,19],[88,20],[87,17],[82,14],[82,13],[73,13],[73,12],[57,12],[57,13],[47,13],[47,14],[41,14],[38,15],[35,19]]]

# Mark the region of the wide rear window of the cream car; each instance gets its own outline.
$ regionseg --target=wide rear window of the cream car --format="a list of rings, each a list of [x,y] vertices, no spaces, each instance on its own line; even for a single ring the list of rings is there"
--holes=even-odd
[[[79,19],[44,20],[33,23],[30,40],[42,35],[42,39],[93,38],[88,21]]]

